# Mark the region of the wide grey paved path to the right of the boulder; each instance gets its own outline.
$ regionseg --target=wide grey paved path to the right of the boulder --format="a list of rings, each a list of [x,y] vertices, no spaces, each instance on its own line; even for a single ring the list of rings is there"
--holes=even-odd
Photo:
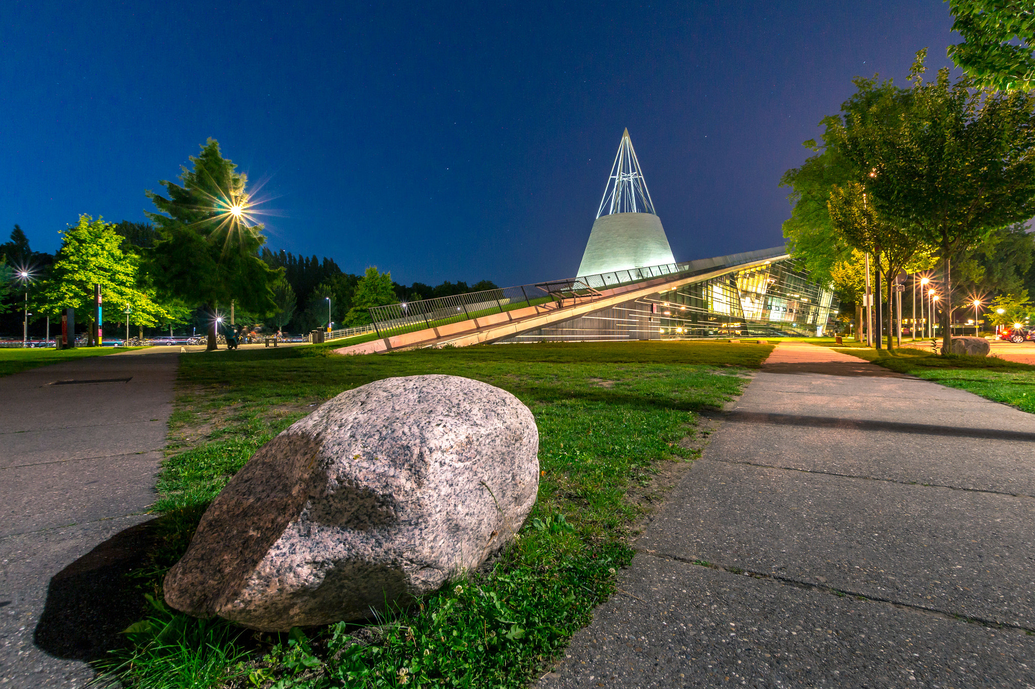
[[[780,344],[540,686],[1035,687],[1033,448],[1035,416]]]

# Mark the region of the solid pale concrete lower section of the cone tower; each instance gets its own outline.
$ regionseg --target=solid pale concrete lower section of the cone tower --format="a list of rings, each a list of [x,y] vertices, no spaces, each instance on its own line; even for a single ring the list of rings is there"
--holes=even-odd
[[[613,213],[593,222],[578,275],[676,263],[661,220],[652,213]]]

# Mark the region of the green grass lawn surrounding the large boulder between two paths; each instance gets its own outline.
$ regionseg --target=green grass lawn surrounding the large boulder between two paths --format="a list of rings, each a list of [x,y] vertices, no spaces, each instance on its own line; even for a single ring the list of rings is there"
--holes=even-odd
[[[614,593],[637,522],[700,450],[698,413],[740,394],[772,347],[720,342],[481,346],[342,357],[334,343],[180,357],[161,514],[113,669],[136,687],[525,687]],[[448,373],[509,390],[535,415],[542,477],[519,538],[482,571],[371,625],[259,634],[167,608],[161,578],[255,450],[329,397]],[[376,625],[376,626],[375,626]]]

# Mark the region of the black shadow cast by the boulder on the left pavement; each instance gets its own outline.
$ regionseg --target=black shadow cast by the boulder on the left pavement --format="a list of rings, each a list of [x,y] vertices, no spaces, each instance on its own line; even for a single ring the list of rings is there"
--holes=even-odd
[[[33,636],[40,650],[89,661],[123,642],[120,632],[143,615],[125,574],[142,563],[154,521],[116,534],[54,575]]]

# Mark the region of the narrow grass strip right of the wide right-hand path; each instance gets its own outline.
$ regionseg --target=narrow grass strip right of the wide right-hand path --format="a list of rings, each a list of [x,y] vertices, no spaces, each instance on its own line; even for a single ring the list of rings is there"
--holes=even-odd
[[[873,350],[865,347],[837,348],[866,361],[935,383],[1012,405],[1035,414],[1035,366],[999,357],[937,356],[909,347]]]

